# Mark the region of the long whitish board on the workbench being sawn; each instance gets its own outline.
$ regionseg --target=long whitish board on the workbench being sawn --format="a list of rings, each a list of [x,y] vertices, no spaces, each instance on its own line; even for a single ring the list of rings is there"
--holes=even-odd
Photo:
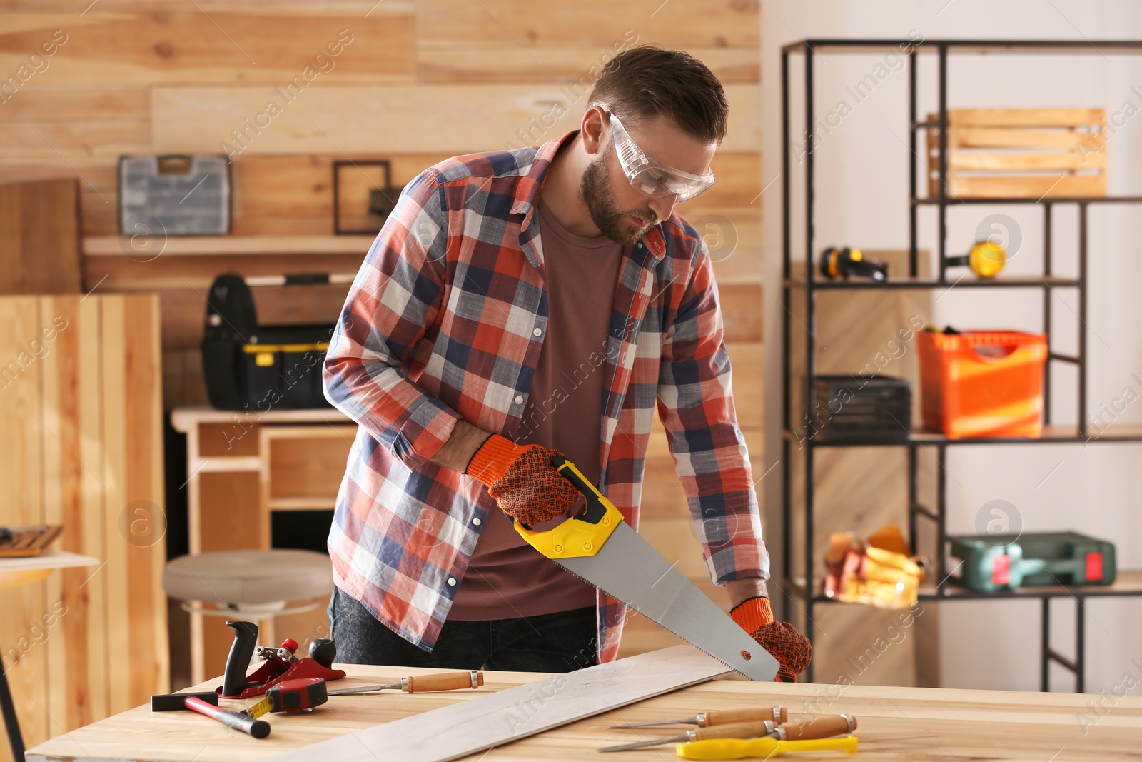
[[[730,672],[692,645],[675,645],[476,696],[266,762],[447,762]]]

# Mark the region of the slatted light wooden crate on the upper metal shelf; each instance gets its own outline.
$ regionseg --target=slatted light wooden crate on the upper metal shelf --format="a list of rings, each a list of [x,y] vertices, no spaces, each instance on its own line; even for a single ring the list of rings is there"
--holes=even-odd
[[[1107,194],[1103,109],[948,111],[949,198]],[[928,114],[936,123],[939,117]],[[940,128],[927,129],[928,196],[940,194]]]

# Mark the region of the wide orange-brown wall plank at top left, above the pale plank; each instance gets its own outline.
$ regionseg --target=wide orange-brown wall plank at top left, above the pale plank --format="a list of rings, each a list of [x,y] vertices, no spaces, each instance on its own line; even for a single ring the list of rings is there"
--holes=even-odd
[[[26,64],[29,54],[62,29],[64,41],[47,59],[57,86],[242,82],[278,87],[301,78],[298,89],[305,91],[308,82],[412,81],[415,73],[416,19],[408,13],[367,17],[266,15],[233,7],[210,14],[193,7],[153,10],[97,10],[81,17],[10,14],[5,21],[14,29],[0,48],[0,71]],[[31,80],[24,87],[34,83]]]

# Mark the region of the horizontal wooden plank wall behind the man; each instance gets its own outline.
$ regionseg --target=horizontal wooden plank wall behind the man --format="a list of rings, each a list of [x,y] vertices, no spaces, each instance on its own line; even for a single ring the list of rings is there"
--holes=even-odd
[[[115,162],[123,153],[233,150],[235,235],[328,236],[336,159],[392,159],[393,181],[402,184],[448,155],[537,144],[572,129],[600,66],[624,47],[681,48],[706,62],[726,87],[731,129],[714,165],[718,183],[681,211],[717,259],[739,416],[755,478],[766,471],[756,0],[89,3],[7,0],[0,15],[0,73],[17,71],[55,40],[42,71],[7,98],[0,94],[0,173],[13,181],[79,177],[89,250],[118,232]],[[316,58],[338,41],[338,55]],[[307,65],[317,73],[287,98],[281,88]],[[270,101],[278,113],[249,129],[246,120],[266,113]],[[556,104],[568,113],[552,123],[546,115]],[[244,139],[236,143],[232,130],[240,129]],[[196,347],[202,294],[217,272],[355,271],[368,247],[363,239],[351,254],[319,243],[313,252],[284,255],[262,240],[260,250],[241,255],[151,257],[120,241],[119,251],[112,244],[111,254],[85,257],[87,289],[160,294],[166,407],[204,401]],[[343,296],[344,289],[306,300],[268,294],[258,306],[265,322],[332,320]],[[651,450],[643,531],[708,586],[660,430]],[[625,652],[673,641],[640,623],[629,632]]]

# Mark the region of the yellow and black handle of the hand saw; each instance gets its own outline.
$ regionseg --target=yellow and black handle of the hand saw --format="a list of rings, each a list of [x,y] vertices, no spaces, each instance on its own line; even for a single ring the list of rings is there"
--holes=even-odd
[[[513,522],[515,530],[529,545],[548,559],[579,559],[595,555],[622,521],[622,514],[564,456],[556,455],[552,462],[560,475],[587,498],[587,510],[547,531],[536,531],[518,521]]]

